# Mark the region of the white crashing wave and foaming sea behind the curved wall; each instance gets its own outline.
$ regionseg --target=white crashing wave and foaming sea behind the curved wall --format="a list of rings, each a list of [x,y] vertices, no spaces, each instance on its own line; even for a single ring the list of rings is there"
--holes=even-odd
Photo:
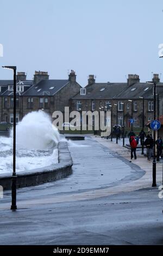
[[[0,137],[0,173],[12,172],[12,135]],[[43,111],[31,112],[16,125],[16,172],[58,162],[60,141],[51,118]]]

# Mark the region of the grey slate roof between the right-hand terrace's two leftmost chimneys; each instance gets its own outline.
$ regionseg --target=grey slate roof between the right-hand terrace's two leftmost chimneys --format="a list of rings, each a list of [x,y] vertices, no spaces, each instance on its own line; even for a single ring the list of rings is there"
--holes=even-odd
[[[78,93],[72,99],[112,99],[127,88],[127,83],[94,83],[86,87],[86,95]]]

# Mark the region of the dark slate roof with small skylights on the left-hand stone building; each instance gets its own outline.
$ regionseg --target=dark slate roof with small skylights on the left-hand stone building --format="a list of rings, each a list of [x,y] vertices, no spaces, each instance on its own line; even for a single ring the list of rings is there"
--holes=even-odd
[[[23,96],[54,95],[62,87],[66,86],[68,82],[68,80],[41,80],[23,93]]]

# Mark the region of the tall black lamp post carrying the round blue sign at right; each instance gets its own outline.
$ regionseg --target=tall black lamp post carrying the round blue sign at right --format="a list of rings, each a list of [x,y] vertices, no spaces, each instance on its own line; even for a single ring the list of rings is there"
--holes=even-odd
[[[149,84],[153,84],[154,86],[154,120],[156,117],[155,114],[155,103],[156,103],[156,83],[148,82]],[[153,154],[153,183],[152,187],[156,187],[156,160],[155,160],[155,130],[154,130],[154,154]]]

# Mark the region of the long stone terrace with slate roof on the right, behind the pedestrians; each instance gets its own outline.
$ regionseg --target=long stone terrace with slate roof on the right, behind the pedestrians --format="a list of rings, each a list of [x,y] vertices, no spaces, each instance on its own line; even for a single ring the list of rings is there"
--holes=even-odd
[[[156,117],[163,114],[163,83],[160,83],[159,75],[154,74],[151,82],[156,83]],[[106,111],[112,109],[112,125],[130,127],[130,119],[133,117],[133,127],[142,126],[142,110],[144,98],[145,123],[154,118],[153,84],[140,82],[138,75],[128,75],[126,83],[96,83],[95,77],[89,75],[85,88],[72,97],[71,109],[78,111]],[[133,107],[132,107],[133,105]],[[124,109],[124,112],[123,112]],[[132,114],[133,109],[133,114]]]

